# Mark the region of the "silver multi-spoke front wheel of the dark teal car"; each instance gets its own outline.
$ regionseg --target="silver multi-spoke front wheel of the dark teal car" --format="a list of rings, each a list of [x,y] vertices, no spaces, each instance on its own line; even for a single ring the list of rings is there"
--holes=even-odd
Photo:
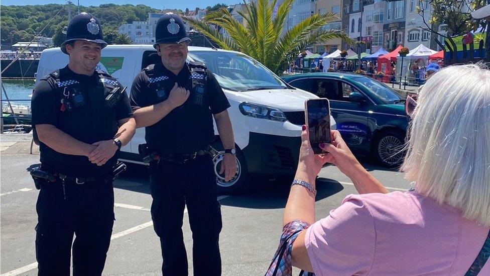
[[[397,167],[405,158],[405,138],[397,132],[388,131],[378,138],[375,152],[378,160],[386,167]]]

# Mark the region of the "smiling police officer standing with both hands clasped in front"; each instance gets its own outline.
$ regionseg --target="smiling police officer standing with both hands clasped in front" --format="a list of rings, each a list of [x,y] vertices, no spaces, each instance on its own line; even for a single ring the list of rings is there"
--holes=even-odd
[[[75,16],[61,45],[68,65],[34,89],[32,124],[41,151],[41,166],[31,171],[41,189],[39,275],[70,275],[73,234],[73,275],[100,275],[104,268],[114,222],[114,166],[136,128],[123,87],[95,71],[106,45],[96,18]]]

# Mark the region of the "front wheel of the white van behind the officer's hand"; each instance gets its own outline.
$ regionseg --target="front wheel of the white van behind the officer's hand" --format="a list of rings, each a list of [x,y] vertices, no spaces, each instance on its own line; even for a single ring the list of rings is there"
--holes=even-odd
[[[216,184],[218,186],[218,192],[220,194],[232,194],[240,191],[244,186],[246,186],[247,178],[249,171],[247,169],[247,162],[245,161],[245,157],[243,153],[236,148],[236,171],[235,175],[229,180],[224,180],[224,173],[219,174],[221,170],[221,162],[224,156],[223,146],[221,142],[216,142],[213,145],[213,148],[218,151],[216,155],[213,157],[214,163],[214,174],[216,174]]]

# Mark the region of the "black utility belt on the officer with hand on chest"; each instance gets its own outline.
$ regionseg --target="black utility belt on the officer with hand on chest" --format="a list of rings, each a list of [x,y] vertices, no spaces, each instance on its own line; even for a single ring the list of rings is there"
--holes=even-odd
[[[147,144],[140,144],[138,146],[138,151],[140,153],[140,156],[143,158],[143,162],[147,164],[159,163],[161,160],[177,164],[186,164],[192,163],[202,156],[208,155],[213,157],[217,153],[217,150],[215,150],[210,145],[208,145],[206,149],[198,150],[190,154],[160,153],[157,150],[148,147]]]

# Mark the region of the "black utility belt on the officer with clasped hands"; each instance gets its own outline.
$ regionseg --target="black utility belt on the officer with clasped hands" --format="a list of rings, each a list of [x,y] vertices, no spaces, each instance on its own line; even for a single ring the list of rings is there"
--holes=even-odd
[[[31,176],[34,179],[34,186],[36,189],[41,189],[41,186],[44,183],[54,183],[61,180],[63,183],[74,183],[76,185],[83,185],[85,183],[100,181],[100,180],[114,180],[121,172],[126,170],[126,164],[122,162],[117,162],[113,167],[112,171],[109,175],[105,176],[85,176],[85,177],[76,177],[70,176],[63,173],[58,173],[54,171],[46,170],[39,165],[31,169]]]

